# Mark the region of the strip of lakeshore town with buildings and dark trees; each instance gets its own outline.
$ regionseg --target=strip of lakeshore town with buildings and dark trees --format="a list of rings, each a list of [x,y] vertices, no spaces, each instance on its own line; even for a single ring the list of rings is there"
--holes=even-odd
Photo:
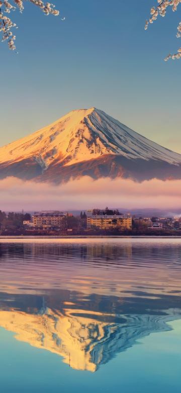
[[[141,217],[118,209],[93,209],[72,214],[58,210],[30,213],[0,210],[1,236],[41,235],[168,235],[181,236],[181,217]]]

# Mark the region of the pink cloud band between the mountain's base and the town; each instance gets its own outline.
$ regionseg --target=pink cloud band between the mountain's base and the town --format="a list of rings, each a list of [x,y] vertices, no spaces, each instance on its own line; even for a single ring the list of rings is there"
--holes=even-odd
[[[126,209],[176,209],[181,206],[181,180],[157,179],[135,183],[126,179],[85,176],[54,185],[23,181],[15,177],[0,180],[1,210],[88,209],[114,206]]]

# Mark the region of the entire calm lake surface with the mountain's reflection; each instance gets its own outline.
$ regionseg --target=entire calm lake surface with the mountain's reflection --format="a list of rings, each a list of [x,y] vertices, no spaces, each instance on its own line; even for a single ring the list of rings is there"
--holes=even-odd
[[[1,393],[181,391],[181,239],[0,239]]]

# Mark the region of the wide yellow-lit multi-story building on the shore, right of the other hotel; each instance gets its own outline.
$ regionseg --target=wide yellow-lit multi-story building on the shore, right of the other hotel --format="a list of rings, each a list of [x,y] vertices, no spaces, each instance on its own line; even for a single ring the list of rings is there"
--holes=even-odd
[[[92,210],[87,210],[87,229],[92,226],[100,229],[108,229],[120,226],[122,228],[132,229],[132,217],[128,215],[93,215]]]

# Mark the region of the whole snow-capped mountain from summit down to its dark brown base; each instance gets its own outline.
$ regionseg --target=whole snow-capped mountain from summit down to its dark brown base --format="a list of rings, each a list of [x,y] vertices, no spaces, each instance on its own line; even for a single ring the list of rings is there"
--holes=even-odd
[[[102,110],[74,110],[0,148],[0,178],[61,183],[71,177],[180,179],[181,155],[134,132]]]

